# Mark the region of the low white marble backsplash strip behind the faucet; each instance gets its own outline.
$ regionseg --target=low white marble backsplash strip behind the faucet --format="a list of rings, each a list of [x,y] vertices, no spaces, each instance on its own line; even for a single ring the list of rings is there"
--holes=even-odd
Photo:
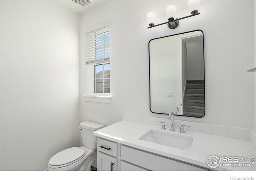
[[[161,123],[157,121],[163,121],[166,124],[166,128],[170,128],[170,120],[168,120],[168,118],[156,118],[156,117],[150,117],[150,116],[141,116],[136,114],[124,113],[123,120],[138,122],[143,124],[150,124],[150,125],[159,126],[159,127],[161,127]],[[184,127],[185,131],[187,130],[187,131],[199,132],[204,134],[212,134],[216,136],[223,136],[227,138],[234,138],[234,139],[240,139],[240,140],[246,140],[246,141],[250,141],[252,136],[253,137],[252,140],[255,140],[255,132],[253,132],[250,129],[175,120],[175,116],[174,116],[174,122],[175,122],[176,130],[180,129],[181,124],[186,124],[190,127]]]

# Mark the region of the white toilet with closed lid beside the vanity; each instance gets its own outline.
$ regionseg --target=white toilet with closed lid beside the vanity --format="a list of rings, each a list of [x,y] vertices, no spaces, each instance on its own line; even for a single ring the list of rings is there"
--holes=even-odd
[[[104,128],[105,125],[85,121],[80,123],[83,146],[72,147],[58,152],[48,162],[48,171],[90,171],[97,145],[96,136],[92,132]]]

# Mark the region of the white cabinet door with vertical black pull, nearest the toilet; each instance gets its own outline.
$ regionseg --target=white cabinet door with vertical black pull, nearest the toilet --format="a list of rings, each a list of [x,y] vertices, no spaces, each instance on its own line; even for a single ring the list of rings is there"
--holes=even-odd
[[[97,171],[116,171],[116,165],[116,158],[103,154],[102,152],[97,153]]]

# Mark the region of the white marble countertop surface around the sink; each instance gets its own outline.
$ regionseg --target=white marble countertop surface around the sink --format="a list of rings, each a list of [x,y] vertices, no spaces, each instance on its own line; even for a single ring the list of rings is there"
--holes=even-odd
[[[184,150],[140,140],[139,138],[149,130],[170,132],[170,128],[166,128],[166,130],[161,130],[160,126],[122,120],[100,130],[97,130],[93,132],[93,134],[100,138],[118,142],[127,146],[132,146],[134,148],[138,148],[147,152],[152,152],[190,164],[202,166],[208,169],[210,168],[206,164],[206,161],[207,158],[212,155],[220,157],[232,156],[244,158],[244,160],[246,161],[248,160],[248,158],[250,159],[252,156],[256,156],[256,147],[250,141],[186,131],[186,127],[185,133],[183,134],[179,132],[179,129],[176,129],[175,132],[170,132],[176,134],[177,136],[184,135],[193,137],[192,145]],[[212,170],[249,171],[256,170],[256,168],[253,168],[252,166],[218,166],[217,168],[213,168]]]

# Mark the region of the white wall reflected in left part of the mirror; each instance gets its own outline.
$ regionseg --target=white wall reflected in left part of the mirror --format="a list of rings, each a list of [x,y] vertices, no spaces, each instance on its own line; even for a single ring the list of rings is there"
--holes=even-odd
[[[172,43],[170,43],[172,42]],[[170,36],[150,41],[150,108],[152,112],[168,113],[181,108],[181,40]],[[166,82],[172,82],[166,84]],[[173,92],[168,97],[168,91]]]

